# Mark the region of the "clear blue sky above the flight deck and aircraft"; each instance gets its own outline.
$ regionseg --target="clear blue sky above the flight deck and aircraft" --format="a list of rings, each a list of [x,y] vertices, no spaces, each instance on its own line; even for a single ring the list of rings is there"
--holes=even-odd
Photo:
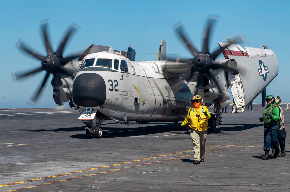
[[[218,46],[217,42],[237,33],[247,37],[248,42],[242,47],[262,48],[267,45],[279,62],[279,74],[267,87],[267,95],[280,95],[282,102],[290,102],[290,1],[0,2],[0,108],[31,108],[26,101],[42,82],[45,73],[13,82],[11,72],[40,67],[41,62],[23,54],[15,45],[22,38],[44,55],[46,51],[39,34],[39,22],[43,19],[50,21],[50,40],[54,50],[71,23],[81,27],[68,43],[64,56],[84,50],[91,44],[110,45],[116,50],[126,50],[130,44],[137,52],[136,60],[155,60],[161,39],[166,41],[168,54],[190,55],[173,31],[173,25],[180,20],[196,47],[201,49],[204,23],[209,14],[220,15],[210,50]],[[52,75],[34,108],[56,106],[51,78]],[[261,103],[260,96],[254,103]]]

